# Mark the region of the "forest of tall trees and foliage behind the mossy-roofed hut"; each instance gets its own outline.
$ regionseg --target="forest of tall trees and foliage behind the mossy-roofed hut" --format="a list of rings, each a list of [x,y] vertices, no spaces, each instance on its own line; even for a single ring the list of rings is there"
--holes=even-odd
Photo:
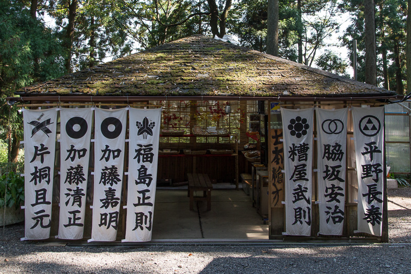
[[[347,77],[357,40],[357,80],[403,95],[407,7],[405,0],[0,0],[0,162],[18,159],[22,117],[5,101],[16,89],[198,33],[232,34],[242,46]]]

